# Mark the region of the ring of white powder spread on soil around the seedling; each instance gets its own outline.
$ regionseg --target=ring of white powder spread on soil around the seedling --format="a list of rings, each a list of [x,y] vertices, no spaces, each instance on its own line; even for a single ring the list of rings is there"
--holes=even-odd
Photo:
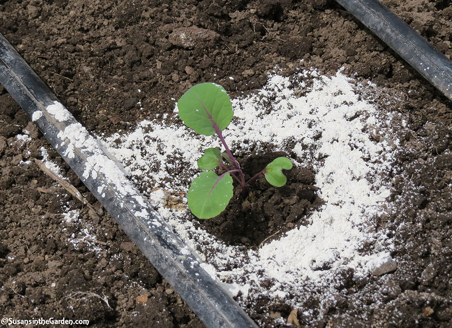
[[[313,82],[311,89],[299,96],[297,89],[306,89],[308,80]],[[115,133],[102,143],[187,246],[198,251],[206,262],[202,267],[212,277],[227,280],[228,289],[240,291],[242,299],[266,295],[287,298],[295,306],[306,298],[301,291],[309,284],[322,288],[326,297],[338,269],[368,274],[367,263],[391,247],[385,234],[370,232],[390,195],[381,176],[391,164],[392,145],[397,144],[397,140],[388,142],[391,131],[379,143],[369,135],[370,125],[384,130],[383,114],[360,100],[340,72],[325,77],[315,70],[271,76],[264,89],[232,103],[234,119],[223,131],[229,147],[293,151],[296,165],[314,168],[318,196],[325,202],[311,215],[311,224],[259,250],[226,245],[195,228],[186,219],[192,215],[188,210],[166,205],[168,193],[188,190],[199,173],[196,161],[202,150],[220,146],[218,138],[199,136],[182,123],[145,120],[135,131]],[[174,113],[176,117],[177,108]],[[183,168],[183,174],[174,175],[177,168]],[[185,197],[183,201],[186,204]],[[373,243],[373,253],[359,253],[365,242]],[[206,258],[204,251],[211,248],[215,257]],[[268,279],[275,281],[270,290],[261,287]]]

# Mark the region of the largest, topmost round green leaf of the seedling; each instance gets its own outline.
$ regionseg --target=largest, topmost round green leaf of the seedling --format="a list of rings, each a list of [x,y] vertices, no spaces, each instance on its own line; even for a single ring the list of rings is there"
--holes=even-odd
[[[184,93],[177,102],[179,117],[199,134],[211,136],[215,127],[226,129],[234,112],[226,90],[215,83],[201,83]]]

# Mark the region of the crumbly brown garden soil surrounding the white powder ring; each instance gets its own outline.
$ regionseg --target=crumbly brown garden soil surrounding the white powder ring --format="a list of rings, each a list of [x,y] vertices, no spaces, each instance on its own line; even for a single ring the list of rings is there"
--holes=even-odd
[[[451,58],[451,1],[383,2]],[[188,41],[181,41],[181,31]],[[321,296],[307,299],[298,320],[310,327],[452,325],[452,104],[336,2],[11,0],[1,1],[0,32],[97,134],[171,113],[171,97],[198,82],[217,82],[232,93],[259,88],[276,65],[287,74],[305,67],[335,74],[344,66],[346,74],[386,88],[373,101],[406,114],[410,129],[392,172],[400,210],[380,222],[392,228],[397,270],[364,278],[343,272],[337,298],[322,309]],[[15,136],[24,129],[31,140],[21,144]],[[33,161],[20,164],[41,159],[41,147],[97,211],[82,208]],[[89,319],[92,327],[203,327],[4,89],[0,170],[0,317]],[[308,213],[315,201],[302,191],[313,189],[301,178],[297,174],[288,188],[297,191],[292,206]],[[259,183],[252,191],[256,200],[242,203],[242,212],[266,210]],[[268,197],[275,206],[293,201],[284,191]],[[69,209],[77,209],[80,220],[62,224],[61,213]],[[91,225],[99,251],[68,242],[83,222]],[[256,245],[271,235],[263,233],[267,228],[261,224],[239,240],[222,238]],[[270,228],[278,231],[280,223]],[[286,319],[291,309],[262,299],[247,310],[271,327],[272,318]]]

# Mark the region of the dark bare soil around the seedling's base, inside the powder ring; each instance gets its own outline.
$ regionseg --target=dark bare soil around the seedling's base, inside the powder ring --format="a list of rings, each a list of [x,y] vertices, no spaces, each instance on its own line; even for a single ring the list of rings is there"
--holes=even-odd
[[[287,154],[268,152],[240,160],[246,179],[281,156]],[[211,220],[195,222],[227,244],[248,247],[257,247],[290,229],[307,225],[309,214],[322,204],[315,194],[314,173],[293,167],[284,171],[284,175],[287,182],[280,188],[272,187],[262,175],[250,183],[245,195],[237,185],[224,212]]]

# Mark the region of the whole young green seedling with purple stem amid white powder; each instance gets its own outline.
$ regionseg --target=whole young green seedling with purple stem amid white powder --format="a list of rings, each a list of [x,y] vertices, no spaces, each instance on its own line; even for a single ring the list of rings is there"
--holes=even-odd
[[[222,86],[215,83],[198,84],[180,97],[177,107],[185,125],[206,136],[217,134],[225,148],[223,153],[217,148],[205,149],[198,160],[198,167],[206,172],[193,180],[187,193],[188,207],[198,218],[210,219],[226,209],[233,195],[232,179],[240,184],[243,194],[246,194],[249,183],[261,174],[276,187],[286,183],[282,170],[292,168],[292,162],[286,157],[276,158],[254,177],[248,181],[245,179],[222,135],[234,116],[231,101]],[[220,176],[213,171],[218,166],[225,170]]]

